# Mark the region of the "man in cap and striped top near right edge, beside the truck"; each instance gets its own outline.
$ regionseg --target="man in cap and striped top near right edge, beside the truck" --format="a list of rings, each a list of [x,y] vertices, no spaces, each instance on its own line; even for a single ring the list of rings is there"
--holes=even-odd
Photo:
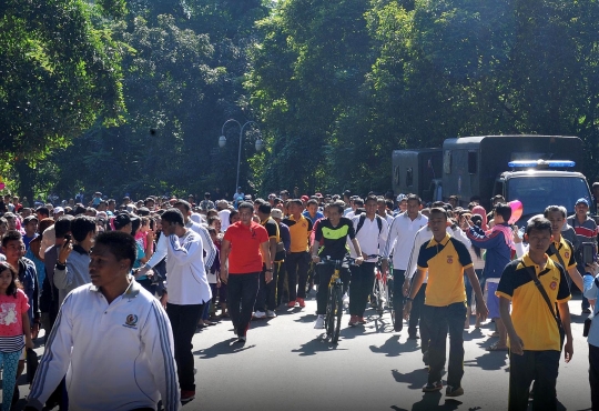
[[[588,215],[589,200],[581,198],[576,200],[575,214],[566,220],[573,228],[578,243],[576,245],[577,269],[580,273],[587,273],[590,270],[585,267],[582,259],[582,243],[590,242],[593,244],[593,255],[597,255],[597,223]],[[582,290],[581,290],[582,291]],[[582,295],[582,313],[590,314],[589,300]]]

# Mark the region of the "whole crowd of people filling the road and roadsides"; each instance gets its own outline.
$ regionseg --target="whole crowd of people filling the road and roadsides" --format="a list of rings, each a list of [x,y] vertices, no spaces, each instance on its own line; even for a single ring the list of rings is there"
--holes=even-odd
[[[429,370],[423,391],[444,388],[449,334],[445,392],[464,393],[463,331],[471,315],[477,328],[488,317],[497,341],[487,350],[510,352],[509,409],[526,410],[529,395],[535,409],[556,409],[560,353],[566,361],[573,355],[570,290],[583,292],[582,313],[591,313],[599,293],[589,199],[579,199],[570,217],[568,204],[547,204],[522,234],[501,197],[487,211],[477,199],[460,207],[455,196],[424,204],[416,194],[293,194],[260,199],[238,188],[229,200],[213,201],[206,192],[202,200],[116,201],[97,192],[87,204],[34,209],[4,196],[3,409],[19,399],[24,349],[33,348],[40,329],[45,352],[28,408],[67,409],[68,398],[77,409],[153,410],[159,400],[165,410],[179,409],[195,398],[192,338],[199,328],[231,319],[235,343],[243,344],[252,320],[305,308],[306,293],[317,287],[314,327],[322,329],[334,270],[322,260],[346,254],[354,261],[341,271],[348,327],[367,322],[376,270],[388,274],[394,330],[407,322]],[[102,354],[108,334],[122,342],[118,355]],[[599,320],[588,342],[596,410]]]

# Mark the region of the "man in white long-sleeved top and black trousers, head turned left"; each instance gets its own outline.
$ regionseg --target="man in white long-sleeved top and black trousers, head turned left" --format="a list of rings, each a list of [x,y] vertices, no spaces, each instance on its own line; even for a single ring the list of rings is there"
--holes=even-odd
[[[167,287],[162,301],[173,328],[181,402],[187,403],[195,398],[192,339],[212,292],[204,268],[202,238],[185,228],[180,210],[172,208],[162,214],[162,233],[167,239]]]

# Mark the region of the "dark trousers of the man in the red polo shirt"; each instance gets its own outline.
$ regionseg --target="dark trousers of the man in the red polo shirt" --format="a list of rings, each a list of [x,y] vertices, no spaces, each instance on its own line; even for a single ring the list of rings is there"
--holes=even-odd
[[[229,314],[237,335],[245,335],[252,321],[252,310],[256,303],[260,272],[229,274],[226,301]]]

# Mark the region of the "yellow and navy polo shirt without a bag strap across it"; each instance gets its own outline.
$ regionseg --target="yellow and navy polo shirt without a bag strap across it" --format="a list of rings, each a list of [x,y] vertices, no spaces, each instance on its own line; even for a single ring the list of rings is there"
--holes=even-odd
[[[446,307],[466,301],[464,269],[473,267],[466,245],[445,233],[437,242],[435,238],[420,247],[418,270],[428,269],[425,304]]]

